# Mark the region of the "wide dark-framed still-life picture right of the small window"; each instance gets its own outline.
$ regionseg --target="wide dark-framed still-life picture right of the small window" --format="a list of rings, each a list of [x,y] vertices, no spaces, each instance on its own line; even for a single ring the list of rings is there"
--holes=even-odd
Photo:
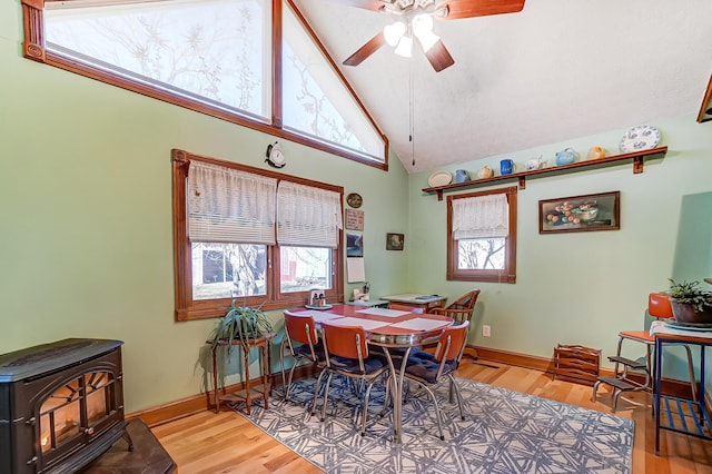
[[[538,233],[581,233],[621,228],[620,191],[538,201]]]

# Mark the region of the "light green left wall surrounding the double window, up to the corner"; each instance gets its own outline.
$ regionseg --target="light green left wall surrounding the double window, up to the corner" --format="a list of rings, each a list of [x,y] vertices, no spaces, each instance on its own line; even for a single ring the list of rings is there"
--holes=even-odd
[[[0,2],[0,354],[120,339],[129,412],[201,392],[215,322],[174,320],[170,150],[267,169],[275,137],[27,60],[21,41],[19,2]],[[397,158],[385,172],[283,146],[284,172],[364,196],[367,277],[405,290],[405,253],[385,250],[407,230]]]

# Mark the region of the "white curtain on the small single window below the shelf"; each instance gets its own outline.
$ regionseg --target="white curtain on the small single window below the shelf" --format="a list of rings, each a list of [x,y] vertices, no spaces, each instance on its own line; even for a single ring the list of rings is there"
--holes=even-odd
[[[507,237],[510,205],[504,194],[453,199],[453,237]]]

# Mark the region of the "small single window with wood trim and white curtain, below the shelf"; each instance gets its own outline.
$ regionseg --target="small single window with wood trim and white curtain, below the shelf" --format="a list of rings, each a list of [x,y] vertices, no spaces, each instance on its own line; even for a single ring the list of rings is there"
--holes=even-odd
[[[447,197],[447,279],[516,282],[516,187]]]

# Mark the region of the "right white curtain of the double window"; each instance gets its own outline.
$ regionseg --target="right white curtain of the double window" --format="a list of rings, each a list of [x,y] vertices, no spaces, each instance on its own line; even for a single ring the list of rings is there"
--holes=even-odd
[[[296,182],[279,182],[279,245],[337,248],[342,228],[342,197],[338,192]]]

